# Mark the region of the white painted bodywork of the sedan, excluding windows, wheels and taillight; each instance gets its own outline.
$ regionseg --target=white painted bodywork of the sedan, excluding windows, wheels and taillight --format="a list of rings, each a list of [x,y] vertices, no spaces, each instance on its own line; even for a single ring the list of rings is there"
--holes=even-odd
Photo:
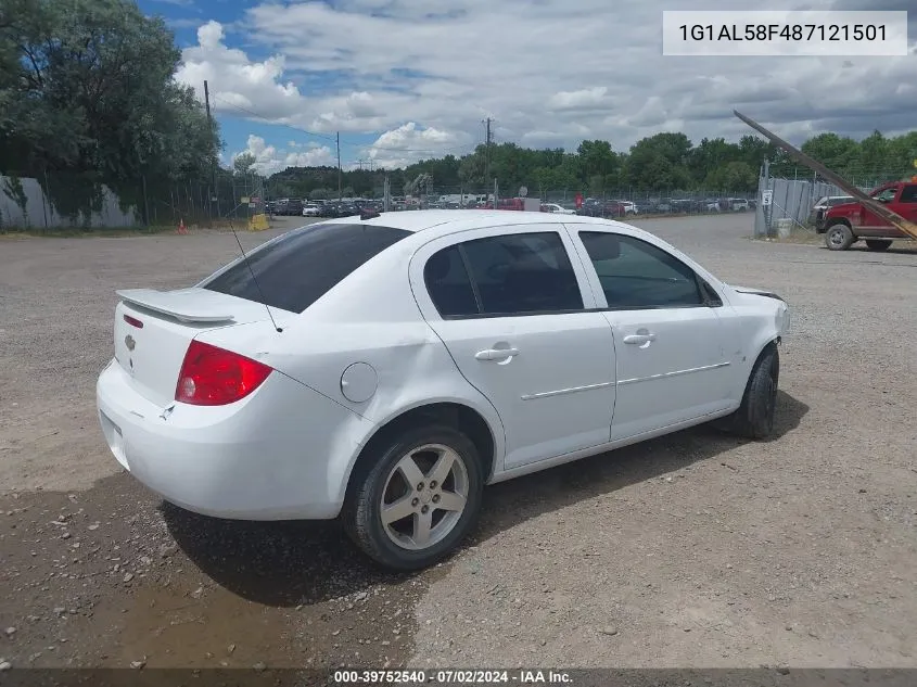
[[[190,290],[127,294],[148,307],[117,306],[118,360],[97,385],[103,432],[124,467],[167,500],[206,514],[334,518],[362,448],[405,412],[448,403],[476,414],[494,444],[488,482],[499,482],[731,412],[759,354],[788,328],[782,301],[736,290],[664,241],[617,221],[472,209],[323,224],[358,221],[412,233],[303,314],[200,289],[209,278]],[[722,306],[607,309],[576,236],[584,228],[670,252],[708,282]],[[423,282],[426,258],[470,238],[526,231],[561,234],[586,311],[438,316]],[[126,311],[144,320],[143,330],[123,320]],[[207,314],[222,319],[200,321]],[[623,342],[642,328],[657,334],[650,346]],[[125,348],[128,334],[137,339],[133,352]],[[192,339],[275,371],[228,406],[176,403]],[[519,354],[475,357],[504,344]],[[133,359],[133,374],[126,359]],[[365,371],[359,384],[372,392],[356,400],[346,395],[354,365]]]

